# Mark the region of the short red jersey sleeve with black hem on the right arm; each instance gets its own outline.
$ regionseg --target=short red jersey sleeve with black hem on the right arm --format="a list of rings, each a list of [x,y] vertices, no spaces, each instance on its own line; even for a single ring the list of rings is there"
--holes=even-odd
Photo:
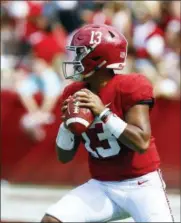
[[[148,104],[150,108],[153,107],[153,87],[144,75],[133,75],[123,83],[121,91],[124,112],[137,104]]]

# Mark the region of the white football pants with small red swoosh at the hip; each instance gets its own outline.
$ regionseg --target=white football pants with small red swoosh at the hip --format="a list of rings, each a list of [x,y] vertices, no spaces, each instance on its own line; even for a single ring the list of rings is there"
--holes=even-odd
[[[160,171],[121,182],[95,179],[73,189],[46,212],[62,222],[173,222]]]

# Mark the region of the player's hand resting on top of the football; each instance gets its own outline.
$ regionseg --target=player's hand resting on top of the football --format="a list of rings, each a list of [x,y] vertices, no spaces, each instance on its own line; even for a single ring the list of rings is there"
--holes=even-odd
[[[96,94],[88,89],[82,89],[74,95],[75,101],[79,102],[80,107],[90,108],[95,116],[100,115],[105,109],[105,105]]]

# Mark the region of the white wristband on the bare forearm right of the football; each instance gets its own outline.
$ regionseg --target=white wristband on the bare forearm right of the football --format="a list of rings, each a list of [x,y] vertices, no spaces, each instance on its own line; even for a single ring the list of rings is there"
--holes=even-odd
[[[118,139],[124,132],[127,123],[119,118],[116,114],[109,114],[106,118],[105,127]]]

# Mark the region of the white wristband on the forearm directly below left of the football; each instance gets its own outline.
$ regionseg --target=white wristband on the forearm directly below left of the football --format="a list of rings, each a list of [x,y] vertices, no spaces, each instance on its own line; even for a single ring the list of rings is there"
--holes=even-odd
[[[63,150],[72,150],[74,148],[74,134],[65,127],[64,122],[60,125],[56,144]]]

